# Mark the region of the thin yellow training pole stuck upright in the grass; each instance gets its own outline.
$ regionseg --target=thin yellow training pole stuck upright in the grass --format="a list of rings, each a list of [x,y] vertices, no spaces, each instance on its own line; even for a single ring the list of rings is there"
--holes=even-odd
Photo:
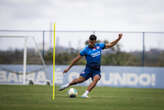
[[[55,24],[54,24],[54,48],[53,48],[53,95],[52,100],[55,100]]]

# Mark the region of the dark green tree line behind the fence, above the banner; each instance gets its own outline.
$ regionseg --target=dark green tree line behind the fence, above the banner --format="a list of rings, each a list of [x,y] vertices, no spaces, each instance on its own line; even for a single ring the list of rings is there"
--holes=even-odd
[[[100,42],[100,41],[98,41]],[[104,41],[107,43],[108,41]],[[88,42],[86,41],[87,45]],[[48,65],[52,64],[53,61],[53,49],[45,51],[44,60]],[[56,64],[57,65],[68,65],[75,58],[80,49],[74,48],[56,48]],[[60,51],[58,51],[60,50]],[[62,51],[63,50],[63,51]],[[27,50],[27,64],[42,64],[39,54],[34,49]],[[164,50],[151,49],[145,51],[144,64],[145,66],[164,66]],[[0,64],[23,64],[23,50],[7,50],[0,51]],[[77,65],[85,65],[86,61],[81,59],[77,62]],[[103,52],[102,65],[112,66],[142,66],[142,51],[126,52],[121,50],[121,46],[117,44],[111,49],[107,49]]]

